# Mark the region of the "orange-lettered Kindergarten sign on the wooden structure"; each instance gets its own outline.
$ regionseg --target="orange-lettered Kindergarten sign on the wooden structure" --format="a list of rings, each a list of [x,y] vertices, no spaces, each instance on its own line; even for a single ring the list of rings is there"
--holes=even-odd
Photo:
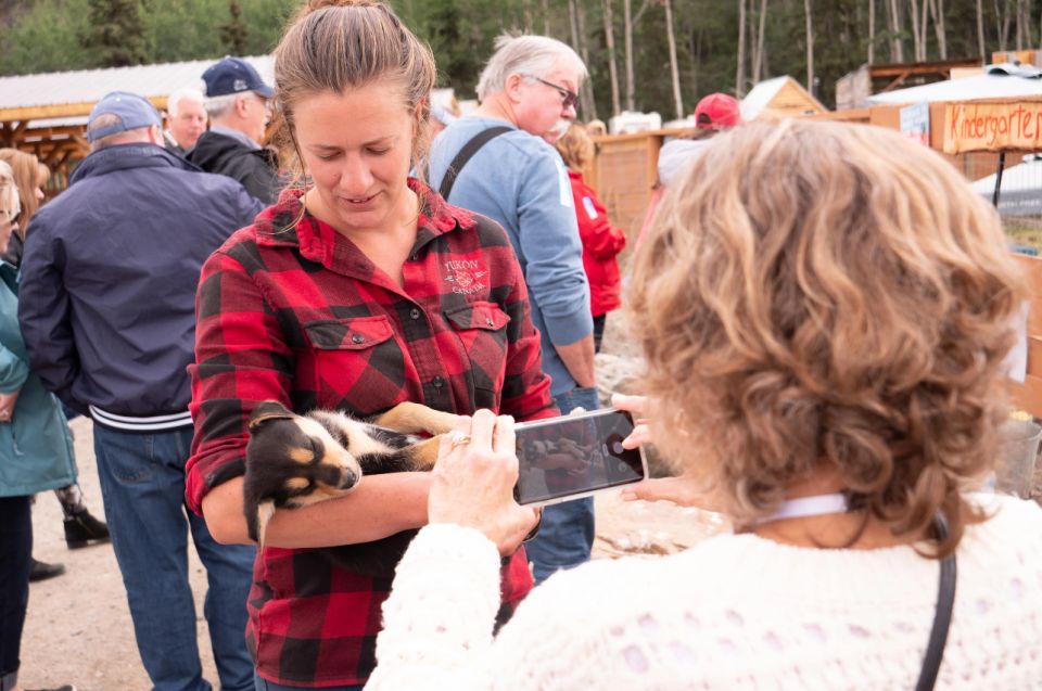
[[[1042,150],[1042,101],[949,103],[944,153]]]

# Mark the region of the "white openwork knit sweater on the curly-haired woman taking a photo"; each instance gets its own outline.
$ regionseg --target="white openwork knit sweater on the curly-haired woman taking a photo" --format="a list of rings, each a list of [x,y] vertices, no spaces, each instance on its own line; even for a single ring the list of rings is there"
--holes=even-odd
[[[984,499],[958,549],[937,689],[1042,688],[1042,510]],[[908,548],[818,550],[754,535],[595,561],[534,590],[495,639],[499,559],[423,528],[398,565],[367,689],[913,689],[939,565]]]

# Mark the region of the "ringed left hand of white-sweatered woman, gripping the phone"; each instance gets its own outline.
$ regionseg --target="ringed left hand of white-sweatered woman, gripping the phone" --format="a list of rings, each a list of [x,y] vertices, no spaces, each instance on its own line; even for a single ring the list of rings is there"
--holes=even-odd
[[[460,442],[458,435],[470,440]],[[432,473],[430,523],[481,530],[503,555],[517,551],[535,527],[536,511],[513,500],[518,457],[512,418],[497,418],[490,410],[461,418],[453,432],[443,436]]]

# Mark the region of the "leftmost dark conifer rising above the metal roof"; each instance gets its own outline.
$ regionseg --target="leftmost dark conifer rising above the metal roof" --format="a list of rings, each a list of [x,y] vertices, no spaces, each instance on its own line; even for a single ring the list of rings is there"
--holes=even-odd
[[[149,59],[140,0],[88,0],[82,43],[102,67],[140,65]]]

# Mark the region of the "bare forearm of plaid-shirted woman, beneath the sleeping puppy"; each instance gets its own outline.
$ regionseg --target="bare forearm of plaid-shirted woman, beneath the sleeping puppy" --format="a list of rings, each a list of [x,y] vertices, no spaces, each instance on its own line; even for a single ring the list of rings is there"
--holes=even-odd
[[[371,542],[427,524],[429,473],[364,477],[350,495],[300,509],[279,509],[268,523],[265,546],[332,547]],[[218,542],[249,545],[242,478],[228,481],[203,499],[203,516]]]

